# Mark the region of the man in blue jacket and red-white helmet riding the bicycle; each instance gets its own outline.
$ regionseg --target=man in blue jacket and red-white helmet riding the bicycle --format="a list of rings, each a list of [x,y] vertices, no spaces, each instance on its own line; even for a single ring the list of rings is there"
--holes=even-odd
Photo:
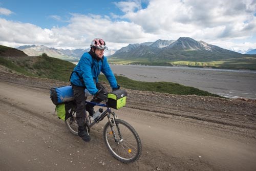
[[[85,106],[87,97],[85,96],[84,90],[87,89],[90,94],[95,96],[92,100],[94,102],[101,102],[107,99],[105,95],[107,91],[98,82],[100,72],[106,76],[113,90],[119,89],[109,63],[106,57],[104,57],[105,49],[108,48],[106,47],[103,39],[93,39],[91,42],[90,52],[86,52],[82,55],[70,78],[77,105],[76,118],[78,124],[78,136],[80,136],[84,141],[91,140],[85,126],[86,111],[84,110],[84,107],[86,107],[86,110],[89,112],[90,116],[93,116],[95,113],[93,110],[93,105]]]

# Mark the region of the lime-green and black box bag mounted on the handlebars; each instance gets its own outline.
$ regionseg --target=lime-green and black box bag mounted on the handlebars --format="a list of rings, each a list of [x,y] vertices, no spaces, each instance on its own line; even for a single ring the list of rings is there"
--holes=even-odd
[[[108,103],[110,108],[120,109],[125,106],[127,92],[125,90],[116,90],[108,94]]]

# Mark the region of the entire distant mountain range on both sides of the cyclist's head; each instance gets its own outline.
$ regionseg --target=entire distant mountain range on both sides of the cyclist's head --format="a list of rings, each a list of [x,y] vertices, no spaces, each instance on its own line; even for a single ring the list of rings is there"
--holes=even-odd
[[[84,52],[90,49],[55,49],[44,45],[20,46],[16,49],[22,50],[29,56],[37,56],[47,53],[48,56],[68,61],[78,61]],[[247,52],[254,54],[256,50]],[[143,42],[141,44],[130,44],[119,50],[106,50],[105,56],[110,59],[139,60],[147,62],[168,61],[216,61],[227,58],[241,57],[241,53],[197,41],[190,37],[180,37],[177,40],[157,40],[154,42]]]

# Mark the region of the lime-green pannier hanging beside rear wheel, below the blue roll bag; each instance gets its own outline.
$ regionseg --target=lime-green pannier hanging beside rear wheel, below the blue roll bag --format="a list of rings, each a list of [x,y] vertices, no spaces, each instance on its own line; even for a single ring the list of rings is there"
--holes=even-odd
[[[76,108],[75,101],[69,101],[56,105],[56,114],[59,119],[65,121],[72,116],[73,111]]]

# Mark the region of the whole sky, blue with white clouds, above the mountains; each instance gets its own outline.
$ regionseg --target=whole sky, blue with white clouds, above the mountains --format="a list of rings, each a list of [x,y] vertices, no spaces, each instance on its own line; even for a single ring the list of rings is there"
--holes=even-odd
[[[109,49],[190,37],[221,48],[256,49],[256,0],[0,0],[0,45]]]

